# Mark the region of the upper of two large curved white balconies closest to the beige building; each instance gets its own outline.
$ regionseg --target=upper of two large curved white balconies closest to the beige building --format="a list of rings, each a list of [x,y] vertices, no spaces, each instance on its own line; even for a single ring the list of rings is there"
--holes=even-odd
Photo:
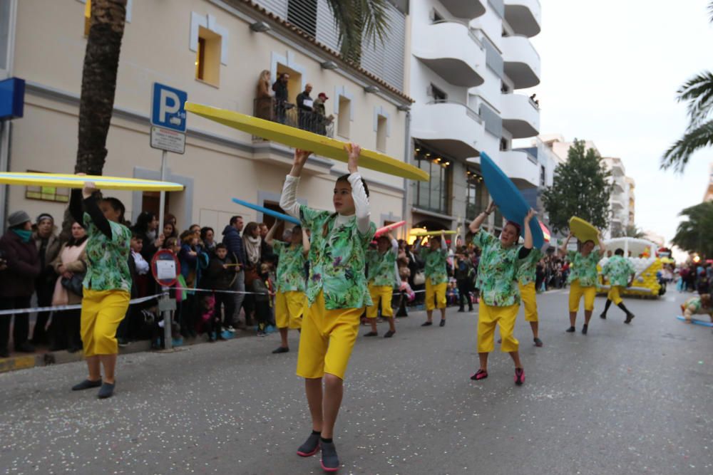
[[[478,73],[486,52],[465,24],[441,21],[414,34],[414,56],[453,85],[473,88],[485,82]]]

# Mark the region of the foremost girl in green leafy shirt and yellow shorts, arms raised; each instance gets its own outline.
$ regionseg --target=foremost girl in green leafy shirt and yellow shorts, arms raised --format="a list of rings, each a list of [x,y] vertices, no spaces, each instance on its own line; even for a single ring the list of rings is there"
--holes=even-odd
[[[334,422],[344,394],[344,373],[359,332],[365,306],[371,306],[364,275],[366,248],[376,226],[370,221],[369,190],[359,174],[361,147],[347,147],[349,174],[337,179],[334,213],[297,203],[297,184],[311,152],[295,150],[279,206],[302,221],[310,233],[307,308],[299,339],[297,375],[312,416],[312,434],[297,449],[312,456],[322,449],[322,469],[337,471]]]

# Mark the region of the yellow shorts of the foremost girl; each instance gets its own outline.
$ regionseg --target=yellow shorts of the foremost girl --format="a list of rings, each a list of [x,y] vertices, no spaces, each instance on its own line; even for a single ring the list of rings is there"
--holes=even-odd
[[[324,293],[319,292],[312,306],[305,308],[299,336],[297,376],[323,377],[325,372],[344,379],[349,357],[364,308],[324,308]]]

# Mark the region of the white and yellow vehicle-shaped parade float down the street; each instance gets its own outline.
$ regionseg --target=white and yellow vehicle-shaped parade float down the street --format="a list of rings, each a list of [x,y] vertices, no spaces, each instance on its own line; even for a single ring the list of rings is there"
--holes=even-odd
[[[604,241],[604,246],[607,252],[602,260],[599,261],[600,274],[610,255],[613,256],[614,251],[617,249],[624,249],[624,256],[627,256],[634,265],[636,271],[634,282],[631,287],[624,289],[624,295],[644,298],[659,298],[662,295],[662,287],[657,274],[662,270],[663,262],[657,254],[658,246],[656,244],[647,239],[622,237],[608,239]],[[599,293],[607,293],[608,291],[608,281],[600,284]]]

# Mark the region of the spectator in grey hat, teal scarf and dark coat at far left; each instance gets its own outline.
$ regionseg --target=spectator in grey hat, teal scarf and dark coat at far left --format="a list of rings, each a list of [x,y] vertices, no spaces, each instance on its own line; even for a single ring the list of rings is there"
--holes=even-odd
[[[8,230],[0,238],[0,257],[7,268],[0,272],[0,310],[29,308],[35,291],[35,279],[41,269],[40,256],[32,242],[32,221],[29,214],[17,211],[7,220]],[[0,357],[8,357],[10,323],[13,315],[0,315]],[[27,340],[30,332],[29,314],[14,315],[12,340],[15,350],[33,353],[35,348]]]

